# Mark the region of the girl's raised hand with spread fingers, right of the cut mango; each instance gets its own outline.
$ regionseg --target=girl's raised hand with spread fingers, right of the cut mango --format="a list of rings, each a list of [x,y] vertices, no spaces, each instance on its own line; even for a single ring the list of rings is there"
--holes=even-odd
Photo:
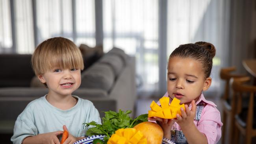
[[[196,114],[197,105],[195,104],[195,100],[193,100],[191,102],[191,104],[192,104],[191,111],[189,110],[188,106],[185,105],[186,112],[181,107],[180,108],[181,116],[180,116],[180,114],[176,114],[177,118],[174,119],[174,121],[179,124],[181,129],[183,129],[183,127],[190,127],[194,124],[194,118],[195,118],[195,114]]]

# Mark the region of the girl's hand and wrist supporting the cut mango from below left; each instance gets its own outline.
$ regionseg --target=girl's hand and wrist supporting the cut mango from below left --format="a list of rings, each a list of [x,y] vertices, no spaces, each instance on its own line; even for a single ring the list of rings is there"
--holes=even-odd
[[[164,119],[164,118],[159,118],[159,117],[151,117],[148,118],[148,120],[156,121],[159,126],[162,127],[163,129],[163,137],[170,139],[171,138],[171,128],[173,126],[173,119]]]

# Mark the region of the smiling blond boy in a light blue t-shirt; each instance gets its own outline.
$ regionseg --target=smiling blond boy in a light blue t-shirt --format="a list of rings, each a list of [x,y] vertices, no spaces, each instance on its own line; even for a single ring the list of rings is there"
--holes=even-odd
[[[86,122],[101,124],[93,103],[72,96],[81,84],[83,58],[69,39],[43,41],[32,55],[32,67],[48,94],[30,102],[18,116],[11,141],[14,144],[60,144],[58,135],[69,131],[64,144],[84,138]]]

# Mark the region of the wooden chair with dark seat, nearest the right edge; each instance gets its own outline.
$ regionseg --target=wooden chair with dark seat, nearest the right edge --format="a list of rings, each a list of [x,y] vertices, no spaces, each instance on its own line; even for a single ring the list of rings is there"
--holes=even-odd
[[[256,86],[245,85],[245,82],[249,80],[249,77],[235,78],[232,84],[234,100],[237,101],[237,109],[235,113],[235,144],[239,143],[239,133],[245,136],[243,144],[251,144],[252,137],[256,136],[256,110],[254,107]],[[244,109],[242,107],[242,102],[248,94],[248,107]]]

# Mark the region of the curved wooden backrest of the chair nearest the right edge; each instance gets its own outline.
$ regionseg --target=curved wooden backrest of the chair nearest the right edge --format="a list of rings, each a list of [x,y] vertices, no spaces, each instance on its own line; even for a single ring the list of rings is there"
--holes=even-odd
[[[256,93],[256,86],[247,85],[246,82],[248,81],[250,81],[250,77],[234,78],[234,81],[232,83],[232,89],[234,91],[234,98],[236,98],[237,100],[236,114],[239,114],[241,112],[242,100],[243,100],[243,96],[245,96],[245,93],[250,94],[246,123],[248,127],[252,127],[254,96]]]

